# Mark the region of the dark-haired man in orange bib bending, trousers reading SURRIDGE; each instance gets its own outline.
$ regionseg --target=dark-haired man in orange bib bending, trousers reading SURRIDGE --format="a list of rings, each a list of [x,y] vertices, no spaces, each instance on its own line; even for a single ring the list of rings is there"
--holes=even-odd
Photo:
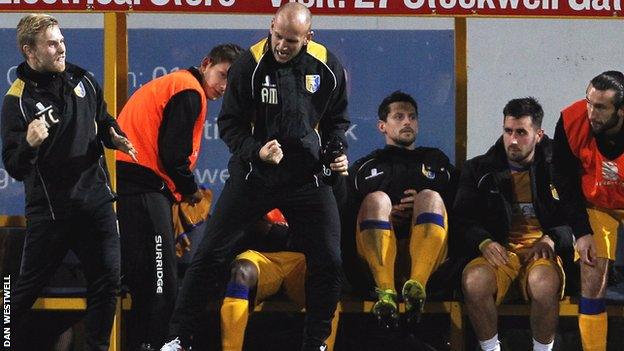
[[[207,100],[223,95],[230,65],[240,53],[233,44],[213,48],[199,67],[141,87],[119,115],[138,151],[136,161],[117,153],[122,271],[136,322],[129,336],[132,351],[154,349],[167,333],[178,289],[171,205],[202,198],[192,170]]]

